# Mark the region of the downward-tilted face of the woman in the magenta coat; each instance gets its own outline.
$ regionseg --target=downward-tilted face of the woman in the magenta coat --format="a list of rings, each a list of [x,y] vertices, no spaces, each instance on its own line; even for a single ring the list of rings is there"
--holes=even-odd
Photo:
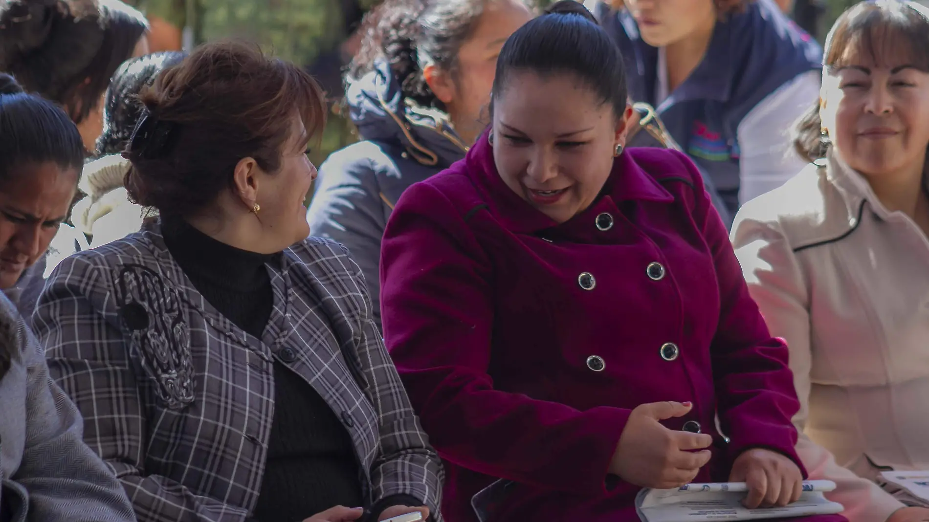
[[[514,72],[494,99],[493,160],[504,183],[557,223],[593,203],[624,139],[618,121],[573,74]]]

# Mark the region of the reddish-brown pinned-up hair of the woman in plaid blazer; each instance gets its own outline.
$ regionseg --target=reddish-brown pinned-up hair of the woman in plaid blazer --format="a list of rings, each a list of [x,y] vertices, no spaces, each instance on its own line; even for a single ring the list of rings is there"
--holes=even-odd
[[[307,142],[325,125],[322,90],[307,72],[241,42],[195,49],[139,99],[147,113],[124,152],[133,166],[125,187],[130,201],[163,215],[203,211],[233,187],[243,158],[277,172],[294,115]]]

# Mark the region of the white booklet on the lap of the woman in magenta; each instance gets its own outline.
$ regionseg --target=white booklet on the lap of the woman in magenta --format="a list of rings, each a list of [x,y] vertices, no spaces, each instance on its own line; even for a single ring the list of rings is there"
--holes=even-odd
[[[830,480],[804,482],[800,500],[784,507],[748,509],[742,505],[748,493],[744,482],[687,484],[680,489],[642,489],[635,499],[643,522],[713,522],[716,520],[763,520],[841,513],[844,508],[823,496],[835,489]]]

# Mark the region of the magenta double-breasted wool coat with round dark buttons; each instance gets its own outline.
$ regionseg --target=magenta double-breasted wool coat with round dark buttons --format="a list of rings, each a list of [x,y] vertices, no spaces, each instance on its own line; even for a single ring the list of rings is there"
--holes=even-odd
[[[638,488],[607,468],[646,402],[694,403],[663,424],[713,436],[697,481],[725,481],[752,447],[802,465],[787,347],[683,154],[626,150],[559,225],[504,185],[481,137],[404,192],[381,285],[386,344],[448,464],[450,522],[477,520],[471,498],[497,478],[516,484],[492,521],[637,521]]]

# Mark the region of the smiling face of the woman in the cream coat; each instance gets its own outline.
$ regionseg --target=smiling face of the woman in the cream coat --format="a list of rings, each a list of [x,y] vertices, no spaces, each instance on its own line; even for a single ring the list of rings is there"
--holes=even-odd
[[[820,114],[834,149],[861,174],[922,173],[929,146],[929,73],[906,53],[849,46],[824,77]]]

